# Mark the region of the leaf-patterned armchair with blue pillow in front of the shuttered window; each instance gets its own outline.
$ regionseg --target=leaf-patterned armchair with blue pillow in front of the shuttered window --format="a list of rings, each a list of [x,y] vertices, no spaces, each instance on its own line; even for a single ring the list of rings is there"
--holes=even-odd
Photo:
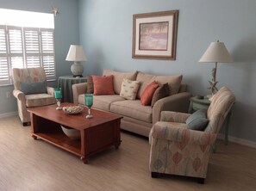
[[[54,104],[53,88],[47,87],[47,77],[42,67],[14,68],[12,75],[18,114],[23,126],[27,126],[30,123],[27,108]]]

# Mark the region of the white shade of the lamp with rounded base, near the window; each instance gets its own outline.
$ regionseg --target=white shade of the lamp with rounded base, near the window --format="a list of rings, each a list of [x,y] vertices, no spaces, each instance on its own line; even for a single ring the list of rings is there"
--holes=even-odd
[[[80,61],[86,61],[86,60],[87,59],[84,54],[83,46],[80,46],[80,45],[70,46],[66,56],[66,61],[80,62]]]

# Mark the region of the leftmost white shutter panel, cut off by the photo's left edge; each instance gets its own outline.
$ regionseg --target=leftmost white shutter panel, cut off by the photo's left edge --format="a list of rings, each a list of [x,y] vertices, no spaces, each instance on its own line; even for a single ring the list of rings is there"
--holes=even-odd
[[[0,26],[0,85],[9,83],[9,63],[7,57],[7,35],[4,26]]]

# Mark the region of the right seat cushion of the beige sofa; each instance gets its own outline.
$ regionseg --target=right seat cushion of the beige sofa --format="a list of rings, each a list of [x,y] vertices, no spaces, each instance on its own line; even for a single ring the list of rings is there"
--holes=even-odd
[[[112,102],[110,112],[152,123],[153,108],[150,106],[142,106],[140,100]]]

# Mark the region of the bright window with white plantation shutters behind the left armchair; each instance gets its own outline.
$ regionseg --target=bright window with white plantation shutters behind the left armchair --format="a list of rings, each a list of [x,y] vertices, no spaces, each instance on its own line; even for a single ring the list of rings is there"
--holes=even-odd
[[[12,68],[39,66],[56,78],[53,15],[0,9],[0,85],[12,83]]]

